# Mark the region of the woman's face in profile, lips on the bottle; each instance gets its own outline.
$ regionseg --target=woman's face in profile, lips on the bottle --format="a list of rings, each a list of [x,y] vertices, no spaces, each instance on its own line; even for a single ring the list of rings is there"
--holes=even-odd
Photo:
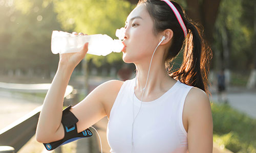
[[[138,5],[127,17],[125,22],[125,49],[123,61],[135,63],[143,59],[151,59],[152,54],[160,42],[153,34],[153,20],[144,5]],[[157,52],[157,51],[156,51]]]

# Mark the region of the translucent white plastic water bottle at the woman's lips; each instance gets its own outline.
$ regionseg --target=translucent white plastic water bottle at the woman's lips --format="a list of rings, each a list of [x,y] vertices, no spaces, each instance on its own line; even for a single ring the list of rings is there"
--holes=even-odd
[[[68,32],[53,31],[51,50],[53,54],[75,53],[82,50],[83,45],[89,42],[88,54],[106,56],[112,52],[120,53],[123,43],[119,39],[112,39],[108,35],[72,35]]]

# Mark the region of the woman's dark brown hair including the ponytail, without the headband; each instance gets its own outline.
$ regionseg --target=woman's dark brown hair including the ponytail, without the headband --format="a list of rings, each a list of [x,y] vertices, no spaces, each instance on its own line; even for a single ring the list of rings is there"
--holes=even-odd
[[[172,9],[160,0],[140,0],[137,4],[146,6],[147,12],[150,14],[154,22],[153,33],[158,33],[171,29],[173,30],[173,42],[165,54],[164,61],[167,73],[174,79],[179,79],[180,82],[189,86],[194,86],[208,91],[208,72],[209,59],[212,58],[212,52],[209,46],[202,38],[200,29],[197,24],[185,15],[184,9],[176,2],[170,1],[179,11],[184,24],[187,28],[187,36],[184,38],[183,30]],[[180,50],[184,49],[183,62],[180,68],[172,72],[173,65],[170,63],[177,57]]]

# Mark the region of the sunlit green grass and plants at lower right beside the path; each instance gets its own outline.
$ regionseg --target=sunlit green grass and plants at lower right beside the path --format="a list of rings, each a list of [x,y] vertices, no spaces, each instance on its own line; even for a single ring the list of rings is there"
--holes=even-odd
[[[230,106],[211,106],[214,142],[233,152],[256,152],[256,120]]]

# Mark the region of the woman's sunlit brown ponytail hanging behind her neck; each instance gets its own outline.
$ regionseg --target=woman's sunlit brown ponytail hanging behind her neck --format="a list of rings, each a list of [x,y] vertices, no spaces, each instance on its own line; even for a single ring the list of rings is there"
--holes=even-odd
[[[199,28],[194,25],[194,22],[187,21],[186,27],[189,33],[184,41],[183,62],[179,70],[169,75],[182,83],[198,87],[210,94],[208,73],[209,58],[212,56],[211,49],[206,45]]]

